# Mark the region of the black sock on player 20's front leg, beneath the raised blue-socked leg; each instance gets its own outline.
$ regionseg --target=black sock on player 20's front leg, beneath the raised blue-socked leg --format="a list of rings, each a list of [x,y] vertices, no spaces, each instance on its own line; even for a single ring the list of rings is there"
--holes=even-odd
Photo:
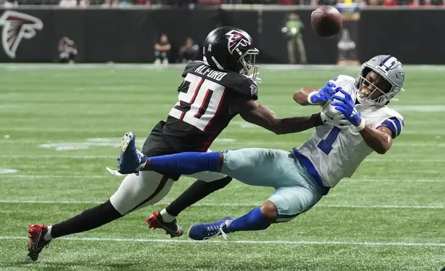
[[[231,177],[229,176],[209,183],[206,183],[203,180],[197,180],[165,209],[167,213],[171,214],[172,216],[178,216],[178,214],[184,211],[184,209],[190,205],[193,205],[194,203],[197,203],[199,200],[202,200],[202,198],[205,198],[214,191],[225,187],[230,183],[230,181]]]

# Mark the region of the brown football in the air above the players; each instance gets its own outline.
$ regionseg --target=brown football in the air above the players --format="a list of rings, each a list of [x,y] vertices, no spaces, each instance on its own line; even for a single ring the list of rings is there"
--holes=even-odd
[[[343,19],[337,8],[332,6],[321,6],[312,12],[310,24],[316,35],[330,38],[340,32]]]

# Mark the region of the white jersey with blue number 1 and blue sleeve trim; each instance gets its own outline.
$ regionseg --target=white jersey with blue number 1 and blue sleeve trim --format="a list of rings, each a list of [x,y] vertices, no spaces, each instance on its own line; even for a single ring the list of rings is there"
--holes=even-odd
[[[352,100],[356,99],[354,78],[339,75],[334,83],[348,92]],[[375,128],[388,127],[392,131],[392,138],[399,136],[404,127],[403,117],[387,106],[356,104],[356,108],[366,124]],[[343,130],[328,124],[315,127],[312,137],[298,147],[297,151],[310,159],[326,187],[334,187],[342,178],[351,177],[366,156],[372,153],[372,149],[352,124]]]

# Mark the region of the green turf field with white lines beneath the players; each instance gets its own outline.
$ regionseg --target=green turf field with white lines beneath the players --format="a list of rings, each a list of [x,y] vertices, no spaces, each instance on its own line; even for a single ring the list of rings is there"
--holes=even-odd
[[[70,68],[68,68],[70,67]],[[76,68],[77,67],[77,68]],[[294,103],[301,86],[322,86],[358,68],[260,69],[259,102],[279,116],[317,108]],[[0,66],[0,270],[440,270],[445,265],[445,68],[406,68],[394,109],[406,126],[384,156],[290,223],[237,232],[228,241],[170,239],[146,228],[147,214],[188,187],[182,178],[157,206],[97,230],[55,240],[26,261],[28,223],[57,223],[107,200],[120,185],[119,138],[138,146],[177,101],[180,68]],[[276,136],[235,118],[211,146],[290,149],[311,134]],[[6,169],[15,169],[7,172]],[[237,181],[183,212],[184,229],[240,216],[272,189]]]

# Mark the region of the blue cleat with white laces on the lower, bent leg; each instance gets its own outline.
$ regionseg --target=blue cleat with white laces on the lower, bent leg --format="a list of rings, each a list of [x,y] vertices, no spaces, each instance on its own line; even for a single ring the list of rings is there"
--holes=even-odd
[[[189,229],[189,237],[193,240],[207,240],[214,238],[218,235],[223,235],[226,239],[227,234],[229,234],[229,224],[234,221],[233,217],[225,217],[215,222],[211,223],[197,223],[192,225]]]

